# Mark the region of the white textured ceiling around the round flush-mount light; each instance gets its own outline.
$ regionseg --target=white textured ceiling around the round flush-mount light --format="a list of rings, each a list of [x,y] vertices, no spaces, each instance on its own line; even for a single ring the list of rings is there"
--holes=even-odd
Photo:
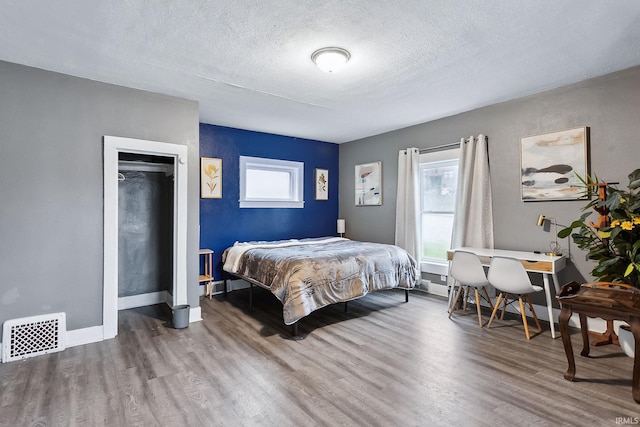
[[[347,68],[315,68],[325,46]],[[0,0],[0,60],[339,143],[639,65],[640,2]]]

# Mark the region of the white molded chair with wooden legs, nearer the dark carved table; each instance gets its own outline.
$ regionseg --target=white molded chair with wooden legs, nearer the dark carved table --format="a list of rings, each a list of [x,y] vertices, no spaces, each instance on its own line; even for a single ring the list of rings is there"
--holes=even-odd
[[[538,331],[542,332],[542,327],[540,326],[540,321],[536,316],[536,312],[533,309],[533,305],[531,305],[531,299],[529,298],[529,294],[533,292],[540,292],[542,287],[535,286],[531,284],[531,279],[529,278],[529,274],[524,269],[522,263],[515,258],[506,258],[506,257],[493,257],[491,259],[491,264],[489,265],[489,275],[488,275],[489,283],[491,286],[500,291],[500,295],[498,295],[498,300],[496,301],[496,305],[491,313],[491,319],[489,319],[489,323],[487,324],[487,329],[491,327],[491,323],[493,319],[496,317],[496,312],[500,307],[500,301],[502,301],[502,297],[504,296],[504,305],[502,307],[502,315],[501,319],[504,319],[504,312],[508,305],[509,295],[517,295],[518,301],[520,302],[520,315],[522,316],[522,323],[524,324],[524,333],[527,336],[527,339],[530,339],[529,335],[529,325],[527,324],[527,315],[525,314],[525,307],[522,301],[524,297],[529,305],[529,309],[531,310],[531,314],[533,315],[533,319],[536,322],[536,326],[538,327]],[[515,298],[512,303],[515,302]]]

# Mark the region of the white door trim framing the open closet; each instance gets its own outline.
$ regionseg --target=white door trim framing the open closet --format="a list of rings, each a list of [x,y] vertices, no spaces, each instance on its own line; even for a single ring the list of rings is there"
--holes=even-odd
[[[187,146],[104,137],[103,336],[118,334],[118,154],[174,157],[173,305],[187,303]]]

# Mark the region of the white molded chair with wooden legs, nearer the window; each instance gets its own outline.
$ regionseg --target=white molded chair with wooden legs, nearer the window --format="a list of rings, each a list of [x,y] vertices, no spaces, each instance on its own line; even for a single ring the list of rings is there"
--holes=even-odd
[[[482,327],[479,290],[484,292],[483,297],[487,300],[492,309],[493,303],[491,302],[491,298],[489,298],[489,293],[487,292],[486,286],[489,285],[489,281],[487,280],[487,275],[484,272],[480,258],[471,252],[455,251],[453,254],[453,260],[451,261],[449,275],[454,280],[451,294],[455,291],[456,286],[458,287],[458,292],[456,293],[456,297],[453,299],[453,303],[449,304],[449,318],[451,318],[451,314],[453,313],[453,310],[455,310],[455,307],[463,294],[465,294],[463,309],[467,308],[469,290],[473,288],[476,297],[478,323],[480,324],[480,327]]]

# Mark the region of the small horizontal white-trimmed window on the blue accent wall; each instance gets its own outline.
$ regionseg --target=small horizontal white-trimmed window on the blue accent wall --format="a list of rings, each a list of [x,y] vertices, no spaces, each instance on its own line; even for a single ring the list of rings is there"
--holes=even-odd
[[[240,156],[241,208],[303,208],[304,163]]]

